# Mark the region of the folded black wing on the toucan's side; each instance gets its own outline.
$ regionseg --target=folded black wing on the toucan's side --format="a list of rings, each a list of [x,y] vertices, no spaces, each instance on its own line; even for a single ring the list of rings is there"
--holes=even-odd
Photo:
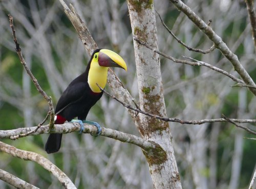
[[[86,91],[87,85],[87,82],[70,83],[58,100],[55,108],[55,114],[60,113],[67,106],[79,101],[84,94],[88,92]]]

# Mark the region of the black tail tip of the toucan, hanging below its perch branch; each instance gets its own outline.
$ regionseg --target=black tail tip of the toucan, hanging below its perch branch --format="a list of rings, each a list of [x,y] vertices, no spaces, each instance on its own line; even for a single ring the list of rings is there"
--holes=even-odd
[[[48,154],[59,151],[61,145],[61,133],[51,133],[46,142],[45,151]]]

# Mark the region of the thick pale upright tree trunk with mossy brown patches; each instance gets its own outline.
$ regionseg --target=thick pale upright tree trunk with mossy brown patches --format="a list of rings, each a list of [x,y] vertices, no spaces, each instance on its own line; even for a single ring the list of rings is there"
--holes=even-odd
[[[127,1],[134,38],[158,49],[156,17],[153,1]],[[140,108],[166,116],[159,55],[134,39]],[[172,135],[167,122],[139,114],[139,132],[144,139],[154,141],[157,148],[146,152],[155,188],[181,188],[174,156]]]

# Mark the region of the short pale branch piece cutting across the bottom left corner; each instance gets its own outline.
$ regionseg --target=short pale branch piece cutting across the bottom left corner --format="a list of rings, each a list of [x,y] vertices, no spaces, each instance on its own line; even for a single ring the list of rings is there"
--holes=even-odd
[[[0,180],[7,182],[8,184],[16,187],[16,188],[31,188],[31,189],[39,189],[38,187],[8,173],[2,169],[0,169]]]

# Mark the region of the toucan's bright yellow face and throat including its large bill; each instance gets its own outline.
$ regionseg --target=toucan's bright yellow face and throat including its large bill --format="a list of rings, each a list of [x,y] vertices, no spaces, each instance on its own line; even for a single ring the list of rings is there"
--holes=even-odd
[[[101,92],[97,84],[101,88],[105,87],[109,67],[120,67],[127,70],[122,57],[113,51],[101,49],[93,55],[88,75],[88,84],[93,92]]]

